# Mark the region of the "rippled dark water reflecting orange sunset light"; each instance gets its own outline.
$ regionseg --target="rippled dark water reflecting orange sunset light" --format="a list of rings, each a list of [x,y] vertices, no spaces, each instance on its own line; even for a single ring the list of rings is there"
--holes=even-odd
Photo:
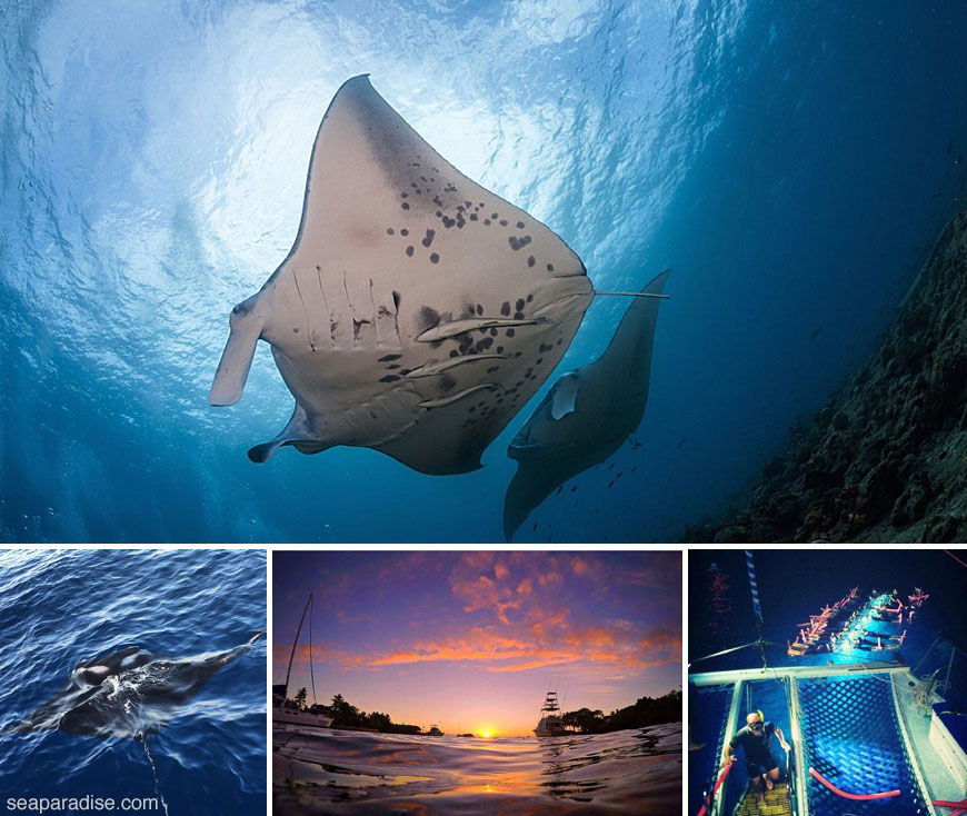
[[[572,737],[275,726],[272,813],[677,814],[681,724]]]

